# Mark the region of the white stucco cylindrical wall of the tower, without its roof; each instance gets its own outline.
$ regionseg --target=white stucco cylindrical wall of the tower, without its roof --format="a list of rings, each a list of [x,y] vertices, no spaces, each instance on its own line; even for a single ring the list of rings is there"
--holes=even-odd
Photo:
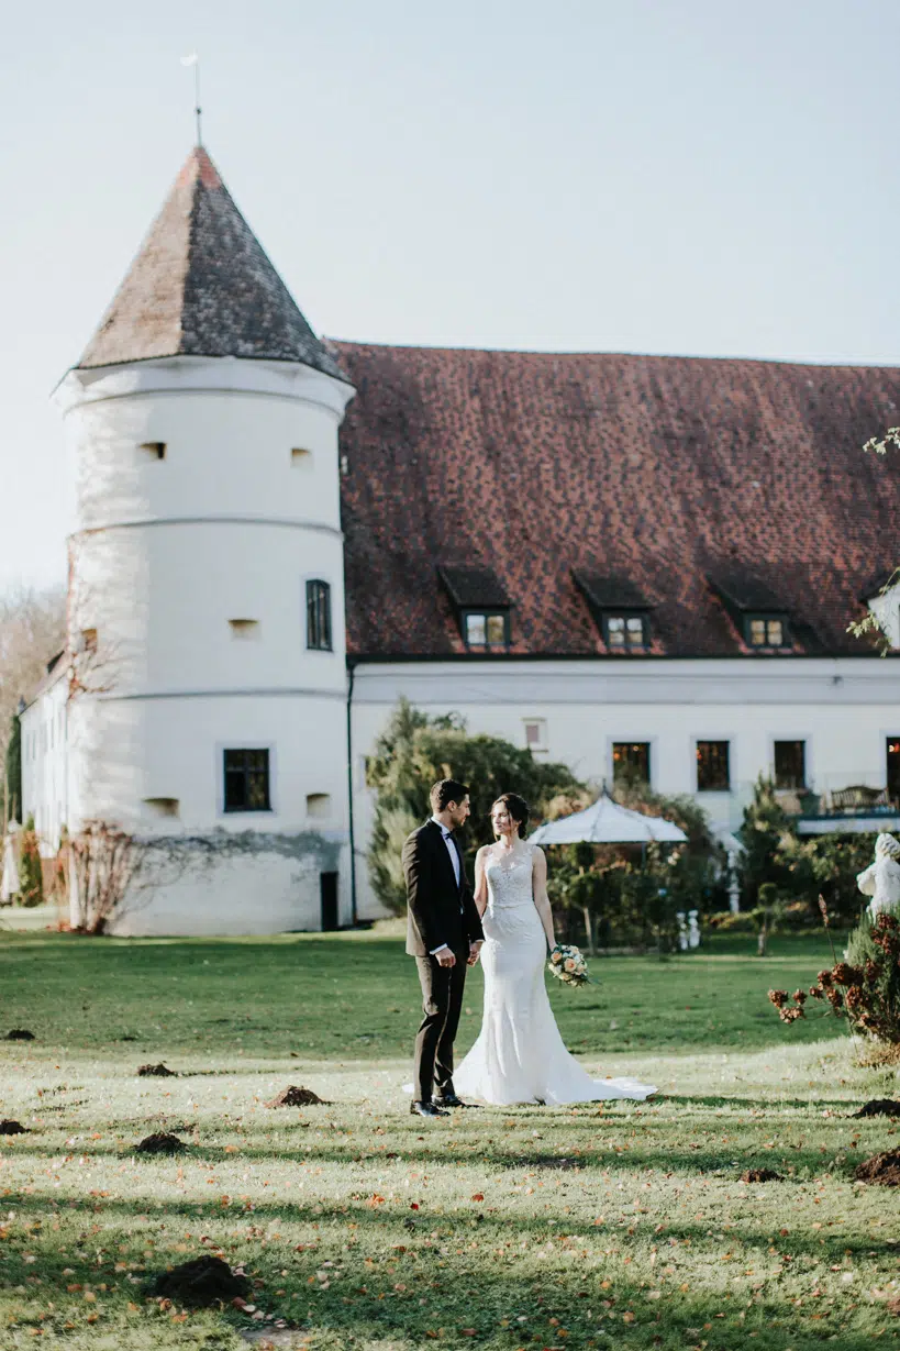
[[[330,871],[349,921],[338,427],[350,394],[308,367],[197,358],[74,372],[62,386],[77,521],[69,825],[197,836],[197,858],[214,857],[200,869],[173,850],[178,865],[145,877],[118,932],[318,928]],[[311,578],[331,588],[331,651],[307,648]],[[259,747],[272,811],[226,812],[223,751]]]

